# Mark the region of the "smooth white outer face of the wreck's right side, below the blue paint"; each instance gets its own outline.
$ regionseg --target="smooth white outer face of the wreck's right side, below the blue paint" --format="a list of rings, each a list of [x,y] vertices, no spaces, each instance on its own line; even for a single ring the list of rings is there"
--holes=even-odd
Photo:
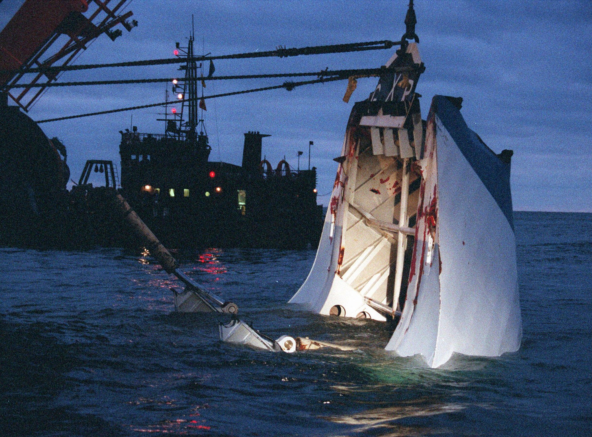
[[[514,232],[437,117],[436,124],[442,273],[433,367],[453,352],[517,351],[522,338]]]

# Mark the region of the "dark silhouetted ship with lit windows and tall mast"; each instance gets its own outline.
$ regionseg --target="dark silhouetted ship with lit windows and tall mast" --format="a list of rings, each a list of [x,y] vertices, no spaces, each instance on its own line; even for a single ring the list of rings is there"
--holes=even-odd
[[[269,135],[257,131],[244,134],[241,166],[208,160],[203,70],[193,44],[192,35],[187,47],[176,45],[175,54],[186,57],[185,77],[172,84],[181,110],[159,119],[165,132],[120,131],[124,196],[168,245],[315,247],[322,226],[316,168],[292,171],[285,160],[272,168],[262,159]]]

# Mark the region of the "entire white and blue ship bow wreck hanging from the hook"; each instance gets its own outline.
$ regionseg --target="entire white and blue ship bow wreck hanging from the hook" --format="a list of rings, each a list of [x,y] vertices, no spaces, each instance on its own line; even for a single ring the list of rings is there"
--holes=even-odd
[[[520,346],[510,151],[492,152],[436,96],[422,121],[417,44],[350,115],[323,234],[290,303],[399,322],[387,349],[439,367]]]

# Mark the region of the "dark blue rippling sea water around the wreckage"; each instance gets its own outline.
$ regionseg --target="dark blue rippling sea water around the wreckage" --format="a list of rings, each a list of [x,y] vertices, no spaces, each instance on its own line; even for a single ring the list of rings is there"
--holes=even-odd
[[[592,214],[515,220],[520,351],[439,369],[385,352],[388,323],[288,305],[313,250],[176,255],[263,333],[355,351],[221,343],[146,253],[0,249],[0,434],[590,435]]]

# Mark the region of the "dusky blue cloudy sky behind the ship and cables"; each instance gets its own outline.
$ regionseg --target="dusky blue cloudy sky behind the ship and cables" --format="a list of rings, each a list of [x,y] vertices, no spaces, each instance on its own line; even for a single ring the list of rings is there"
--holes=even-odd
[[[0,27],[22,0],[0,4]],[[172,56],[195,15],[196,50],[229,54],[356,41],[398,40],[407,0],[208,2],[136,0],[129,8],[139,27],[112,42],[101,36],[76,63]],[[513,149],[515,210],[592,211],[592,2],[416,0],[417,34],[426,72],[417,92],[425,118],[435,94],[464,98],[462,114],[496,152]],[[289,59],[220,60],[217,75],[374,68],[392,50]],[[175,66],[66,72],[61,81],[175,76]],[[353,102],[368,97],[377,79],[360,79],[349,104],[346,82],[324,83],[207,101],[211,160],[240,164],[243,133],[258,130],[272,165],[313,140],[319,194],[333,185],[345,124]],[[208,82],[206,94],[275,85],[282,79]],[[34,120],[162,101],[163,84],[53,88],[30,110]],[[141,132],[162,133],[155,108],[134,111]],[[162,112],[162,111],[161,111]],[[119,163],[119,130],[132,113],[41,124],[62,139],[73,179],[86,159]],[[301,160],[301,167],[307,159]],[[329,196],[319,197],[327,203]]]

